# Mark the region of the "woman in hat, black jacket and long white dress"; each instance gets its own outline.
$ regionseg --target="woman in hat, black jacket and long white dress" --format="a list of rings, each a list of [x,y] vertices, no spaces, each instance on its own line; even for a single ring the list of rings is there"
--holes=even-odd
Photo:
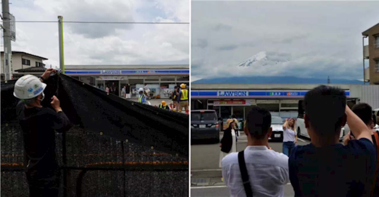
[[[219,168],[221,168],[221,161],[226,155],[231,152],[237,152],[236,144],[236,133],[234,131],[234,121],[233,119],[227,119],[226,124],[228,128],[224,130],[224,136],[221,139],[221,152],[220,152],[220,162]]]

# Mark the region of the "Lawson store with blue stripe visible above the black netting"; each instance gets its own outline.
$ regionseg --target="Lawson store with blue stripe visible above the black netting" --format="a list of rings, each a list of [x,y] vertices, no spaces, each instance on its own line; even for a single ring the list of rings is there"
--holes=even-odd
[[[102,90],[114,83],[119,96],[125,86],[131,98],[138,98],[137,90],[145,84],[162,99],[169,98],[175,86],[189,84],[189,65],[65,65],[65,74]]]

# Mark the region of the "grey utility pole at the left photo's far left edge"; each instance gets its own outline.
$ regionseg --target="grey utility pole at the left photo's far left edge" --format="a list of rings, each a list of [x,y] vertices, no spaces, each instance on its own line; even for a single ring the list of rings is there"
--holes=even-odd
[[[11,43],[11,17],[9,13],[9,0],[2,1],[3,9],[3,40],[4,40],[4,74],[5,80],[11,80],[12,76],[12,43]]]

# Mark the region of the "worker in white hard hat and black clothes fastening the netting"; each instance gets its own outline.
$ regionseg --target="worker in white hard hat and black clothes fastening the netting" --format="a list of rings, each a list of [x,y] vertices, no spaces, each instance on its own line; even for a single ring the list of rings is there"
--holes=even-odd
[[[56,197],[59,193],[60,170],[55,155],[55,132],[66,132],[70,122],[53,96],[52,108],[42,107],[44,80],[55,72],[48,68],[41,78],[25,75],[16,81],[13,95],[21,101],[17,115],[23,132],[26,175],[31,197]]]

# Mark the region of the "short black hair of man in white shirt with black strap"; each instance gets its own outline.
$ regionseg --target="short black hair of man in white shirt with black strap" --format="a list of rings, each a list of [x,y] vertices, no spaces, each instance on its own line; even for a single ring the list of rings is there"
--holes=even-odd
[[[271,113],[261,107],[252,107],[246,116],[246,127],[253,138],[262,140],[271,127]]]

